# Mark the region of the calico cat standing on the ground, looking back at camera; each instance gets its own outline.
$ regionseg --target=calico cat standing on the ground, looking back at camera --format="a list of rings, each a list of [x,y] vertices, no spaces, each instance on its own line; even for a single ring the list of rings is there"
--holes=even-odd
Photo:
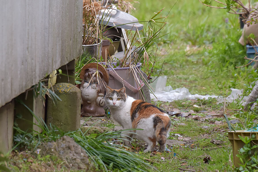
[[[130,132],[134,132],[138,140],[148,144],[144,153],[152,152],[156,141],[159,143],[158,152],[165,151],[171,126],[169,116],[155,105],[126,96],[125,92],[125,87],[116,90],[107,86],[105,95],[105,106],[109,108],[114,121],[118,122],[123,129],[143,129],[122,132],[124,145],[130,146],[133,137]]]

